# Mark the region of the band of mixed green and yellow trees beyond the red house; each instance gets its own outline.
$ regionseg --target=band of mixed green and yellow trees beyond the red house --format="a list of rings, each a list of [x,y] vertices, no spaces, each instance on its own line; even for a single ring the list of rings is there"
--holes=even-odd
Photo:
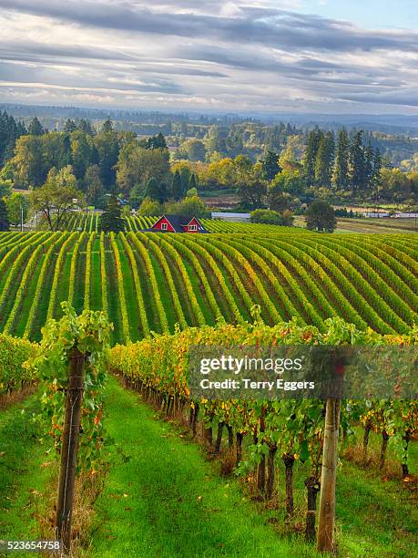
[[[145,201],[149,210],[150,200],[157,204],[154,214],[158,204],[178,202],[188,191],[195,197],[217,192],[220,203],[233,192],[241,210],[281,214],[303,212],[303,204],[315,199],[337,205],[402,203],[410,210],[416,205],[413,159],[408,170],[397,167],[382,149],[382,134],[183,121],[164,126],[167,135],[138,136],[118,124],[66,119],[57,131],[36,117],[25,122],[1,113],[0,193],[9,198],[10,220],[20,218],[15,217],[22,197],[14,190],[36,191],[52,183],[70,184],[73,198],[90,207],[105,207],[109,194],[134,208]],[[195,126],[199,130],[191,130]],[[199,207],[203,216],[203,204]]]

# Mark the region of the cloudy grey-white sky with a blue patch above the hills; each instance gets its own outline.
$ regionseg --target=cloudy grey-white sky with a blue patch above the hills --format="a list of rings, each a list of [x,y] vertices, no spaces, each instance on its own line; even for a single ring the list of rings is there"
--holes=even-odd
[[[0,101],[418,113],[417,0],[0,0]]]

